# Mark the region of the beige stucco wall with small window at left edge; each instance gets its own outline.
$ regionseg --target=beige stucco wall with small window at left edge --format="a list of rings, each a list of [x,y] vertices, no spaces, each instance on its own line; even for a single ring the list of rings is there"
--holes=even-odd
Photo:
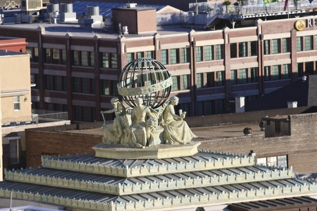
[[[2,119],[31,116],[29,55],[0,57]],[[20,110],[14,111],[13,97],[20,96]]]

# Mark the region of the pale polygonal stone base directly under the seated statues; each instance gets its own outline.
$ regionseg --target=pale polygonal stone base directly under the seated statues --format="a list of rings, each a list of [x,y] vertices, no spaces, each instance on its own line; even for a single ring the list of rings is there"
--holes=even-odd
[[[122,145],[106,145],[100,143],[93,147],[96,157],[110,159],[163,159],[172,157],[192,156],[198,152],[200,142],[190,142],[186,145],[156,145],[155,147],[125,148]]]

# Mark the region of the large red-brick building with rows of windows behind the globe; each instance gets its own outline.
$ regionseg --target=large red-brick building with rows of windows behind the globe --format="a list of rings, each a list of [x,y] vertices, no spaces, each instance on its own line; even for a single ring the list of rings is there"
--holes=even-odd
[[[0,36],[28,42],[34,108],[68,111],[73,122],[93,122],[101,121],[101,110],[112,108],[121,70],[139,57],[166,66],[171,97],[179,97],[179,108],[189,116],[233,112],[236,96],[251,101],[315,74],[317,27],[294,28],[296,21],[311,19],[258,19],[251,27],[215,31],[172,26],[125,35],[69,24],[17,24],[0,26]]]

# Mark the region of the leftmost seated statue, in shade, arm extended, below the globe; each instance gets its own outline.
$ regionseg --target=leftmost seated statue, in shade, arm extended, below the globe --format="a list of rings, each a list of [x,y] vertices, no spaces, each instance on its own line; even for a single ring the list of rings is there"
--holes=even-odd
[[[111,104],[113,109],[107,111],[100,111],[104,120],[104,136],[102,142],[104,144],[123,144],[123,129],[125,127],[125,121],[123,116],[126,114],[125,106],[119,101],[118,98],[112,98]],[[113,124],[107,124],[105,122],[104,113],[115,113],[116,118]]]

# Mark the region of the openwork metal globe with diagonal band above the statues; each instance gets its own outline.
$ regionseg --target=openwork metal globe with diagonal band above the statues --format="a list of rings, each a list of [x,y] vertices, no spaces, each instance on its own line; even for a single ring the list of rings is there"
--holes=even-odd
[[[122,70],[118,92],[131,107],[142,98],[146,106],[157,108],[164,104],[171,92],[172,78],[163,64],[151,58],[129,62]]]

